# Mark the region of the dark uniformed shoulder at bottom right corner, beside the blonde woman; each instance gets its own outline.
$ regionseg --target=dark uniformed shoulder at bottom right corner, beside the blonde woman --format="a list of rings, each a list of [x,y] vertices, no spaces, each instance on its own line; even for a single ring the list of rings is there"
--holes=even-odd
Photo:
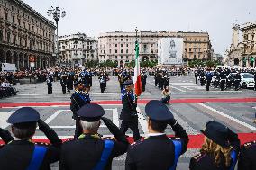
[[[256,169],[256,141],[247,142],[242,145],[238,160],[238,170]]]

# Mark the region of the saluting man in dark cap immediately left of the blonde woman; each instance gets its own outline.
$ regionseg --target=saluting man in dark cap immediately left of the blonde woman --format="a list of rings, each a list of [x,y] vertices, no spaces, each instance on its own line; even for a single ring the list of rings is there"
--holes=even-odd
[[[135,142],[128,149],[126,170],[176,169],[178,157],[186,152],[188,136],[169,111],[160,101],[152,100],[146,104],[149,136]],[[175,132],[175,137],[165,134],[167,125]]]

